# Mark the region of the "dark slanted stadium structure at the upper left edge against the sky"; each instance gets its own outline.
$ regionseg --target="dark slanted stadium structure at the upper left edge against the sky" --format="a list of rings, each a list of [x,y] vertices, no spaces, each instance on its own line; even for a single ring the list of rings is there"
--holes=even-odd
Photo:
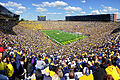
[[[5,21],[18,21],[20,15],[14,14],[6,9],[4,6],[0,5],[0,20]]]

